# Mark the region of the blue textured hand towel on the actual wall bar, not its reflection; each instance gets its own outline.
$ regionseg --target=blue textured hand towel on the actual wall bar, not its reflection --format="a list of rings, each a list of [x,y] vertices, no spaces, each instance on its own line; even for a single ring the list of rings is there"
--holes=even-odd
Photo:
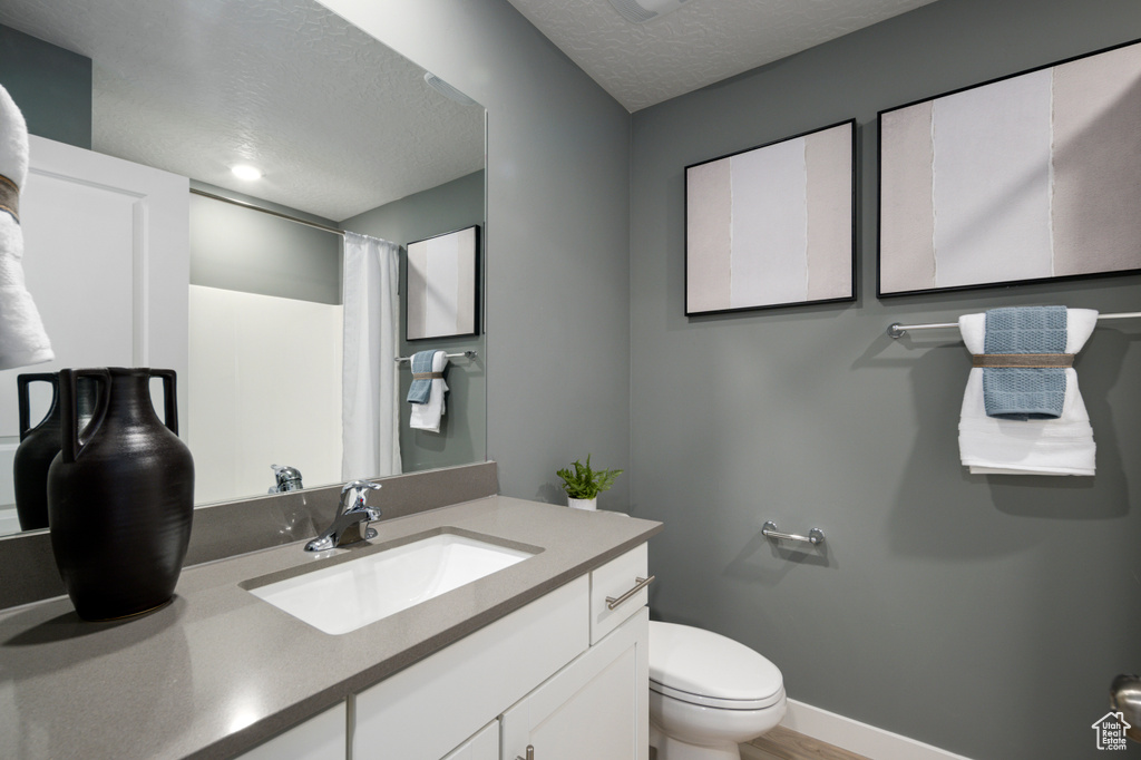
[[[1066,307],[1034,306],[987,312],[987,354],[1065,354]],[[987,417],[1053,420],[1062,415],[1066,370],[986,367],[982,402]]]

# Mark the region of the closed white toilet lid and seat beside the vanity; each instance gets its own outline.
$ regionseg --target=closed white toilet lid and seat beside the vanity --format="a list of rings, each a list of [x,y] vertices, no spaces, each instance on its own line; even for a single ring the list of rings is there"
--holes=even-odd
[[[738,641],[657,621],[649,640],[649,688],[663,696],[721,710],[762,710],[784,698],[777,666]]]

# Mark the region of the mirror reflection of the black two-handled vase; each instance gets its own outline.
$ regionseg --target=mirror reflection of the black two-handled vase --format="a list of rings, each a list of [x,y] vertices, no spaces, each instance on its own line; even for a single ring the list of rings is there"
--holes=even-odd
[[[32,404],[29,388],[33,382],[51,386],[51,405],[47,415],[32,427]],[[91,419],[95,407],[95,386],[76,386],[76,410],[80,425]],[[59,453],[59,373],[37,372],[16,378],[19,402],[19,447],[13,462],[13,484],[16,491],[16,516],[19,529],[34,531],[48,527],[48,468]]]

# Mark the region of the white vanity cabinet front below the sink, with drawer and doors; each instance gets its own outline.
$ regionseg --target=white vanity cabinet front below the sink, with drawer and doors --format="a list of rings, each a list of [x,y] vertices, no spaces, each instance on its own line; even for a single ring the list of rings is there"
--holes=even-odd
[[[598,609],[646,565],[641,544],[359,693],[353,759],[515,760],[532,745],[535,760],[646,760],[645,591]],[[618,575],[624,589],[593,593]],[[596,620],[609,632],[592,641]]]

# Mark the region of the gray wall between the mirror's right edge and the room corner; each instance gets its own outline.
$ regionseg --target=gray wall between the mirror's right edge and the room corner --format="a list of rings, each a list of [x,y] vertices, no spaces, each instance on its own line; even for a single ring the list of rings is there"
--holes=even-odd
[[[501,493],[628,467],[629,114],[505,0],[322,0],[487,107],[487,455]],[[625,507],[628,478],[600,504]]]

